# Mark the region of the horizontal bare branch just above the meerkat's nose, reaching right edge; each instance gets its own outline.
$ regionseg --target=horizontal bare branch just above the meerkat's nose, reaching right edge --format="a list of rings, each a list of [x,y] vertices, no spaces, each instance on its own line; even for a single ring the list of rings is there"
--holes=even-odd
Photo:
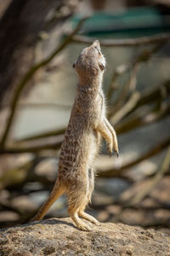
[[[158,42],[166,42],[170,39],[169,33],[161,33],[150,37],[141,38],[126,38],[126,39],[103,39],[100,40],[101,46],[113,47],[113,46],[137,46],[144,44],[155,44]],[[78,44],[92,44],[95,38],[88,38],[85,36],[76,35],[73,38],[74,43]]]

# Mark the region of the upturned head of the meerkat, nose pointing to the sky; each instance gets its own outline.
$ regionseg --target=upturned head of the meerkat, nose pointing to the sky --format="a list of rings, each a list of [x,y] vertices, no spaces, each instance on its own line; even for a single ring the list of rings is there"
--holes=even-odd
[[[82,50],[73,64],[79,75],[98,75],[105,71],[105,57],[101,53],[99,41]]]

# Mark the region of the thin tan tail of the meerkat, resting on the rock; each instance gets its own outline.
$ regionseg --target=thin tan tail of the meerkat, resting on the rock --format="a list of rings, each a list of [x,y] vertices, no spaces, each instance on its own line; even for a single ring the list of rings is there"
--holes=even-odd
[[[60,195],[64,193],[64,189],[61,188],[58,184],[54,186],[54,189],[50,193],[48,200],[45,201],[45,203],[42,205],[42,207],[37,212],[36,216],[31,218],[31,221],[34,220],[41,220],[46,212],[48,212],[48,209],[54,204],[54,202],[59,198]]]

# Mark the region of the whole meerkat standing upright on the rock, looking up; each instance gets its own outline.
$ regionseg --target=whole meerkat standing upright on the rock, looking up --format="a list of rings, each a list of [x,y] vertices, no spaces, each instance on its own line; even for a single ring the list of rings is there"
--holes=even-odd
[[[105,57],[99,41],[82,50],[73,64],[77,75],[77,96],[59,155],[58,177],[48,200],[37,215],[43,218],[49,207],[63,193],[68,195],[68,212],[79,230],[91,230],[82,218],[99,225],[99,221],[84,212],[94,190],[94,159],[99,151],[101,137],[107,143],[108,153],[118,156],[116,131],[105,116],[105,96],[102,79]]]

